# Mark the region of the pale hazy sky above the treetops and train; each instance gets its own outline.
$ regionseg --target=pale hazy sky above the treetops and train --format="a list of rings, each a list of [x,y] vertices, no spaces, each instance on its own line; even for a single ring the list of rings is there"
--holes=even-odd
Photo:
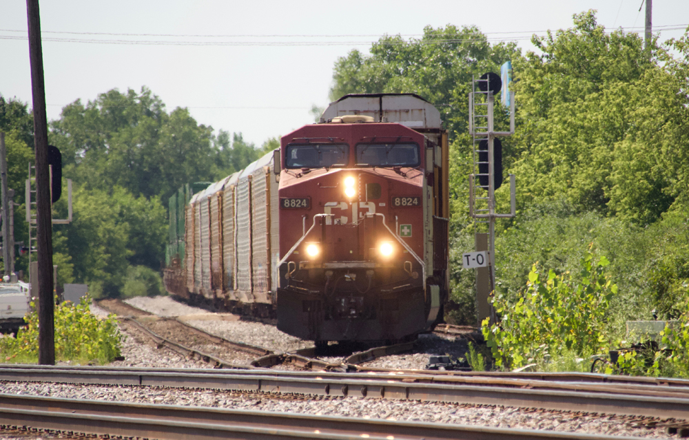
[[[640,6],[641,0],[43,0],[48,119],[76,99],[145,86],[168,112],[187,107],[216,133],[241,132],[260,146],[312,123],[311,107],[329,102],[337,59],[355,48],[368,53],[383,34],[409,39],[426,25],[476,25],[489,39],[517,39],[533,50],[531,34],[571,28],[573,14],[589,9],[608,29],[643,34]],[[25,1],[0,0],[0,94],[31,103],[26,23]],[[653,2],[655,34],[688,24],[688,0]],[[659,35],[664,41],[682,34]]]

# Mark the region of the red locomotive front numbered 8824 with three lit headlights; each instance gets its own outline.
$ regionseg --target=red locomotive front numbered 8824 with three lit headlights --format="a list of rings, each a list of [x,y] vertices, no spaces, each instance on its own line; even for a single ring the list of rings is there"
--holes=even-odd
[[[280,330],[317,342],[397,341],[438,319],[429,145],[372,118],[282,138]]]

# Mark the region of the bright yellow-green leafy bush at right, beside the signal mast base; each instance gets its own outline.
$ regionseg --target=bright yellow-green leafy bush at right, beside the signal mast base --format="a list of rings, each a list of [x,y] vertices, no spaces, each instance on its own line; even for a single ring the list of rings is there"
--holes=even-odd
[[[546,272],[534,264],[517,302],[509,303],[498,294],[493,305],[500,322],[482,323],[495,364],[518,368],[564,350],[577,355],[601,352],[608,344],[604,334],[608,307],[617,293],[617,284],[605,272],[609,264],[604,256],[587,253],[576,276]]]

